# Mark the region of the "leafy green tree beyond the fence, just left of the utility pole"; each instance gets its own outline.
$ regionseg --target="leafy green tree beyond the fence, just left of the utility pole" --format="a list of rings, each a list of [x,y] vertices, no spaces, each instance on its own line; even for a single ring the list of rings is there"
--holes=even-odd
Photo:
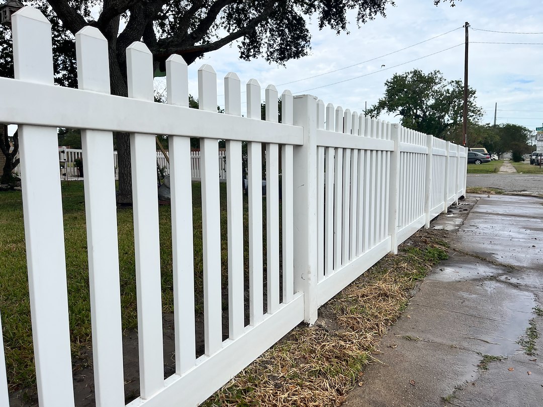
[[[377,117],[381,112],[401,116],[401,124],[435,137],[451,139],[462,126],[464,85],[460,80],[446,80],[439,71],[425,74],[413,69],[384,82],[384,97],[365,111]],[[475,89],[468,90],[468,121],[478,123],[483,110],[476,105]],[[447,137],[448,136],[448,137]]]

